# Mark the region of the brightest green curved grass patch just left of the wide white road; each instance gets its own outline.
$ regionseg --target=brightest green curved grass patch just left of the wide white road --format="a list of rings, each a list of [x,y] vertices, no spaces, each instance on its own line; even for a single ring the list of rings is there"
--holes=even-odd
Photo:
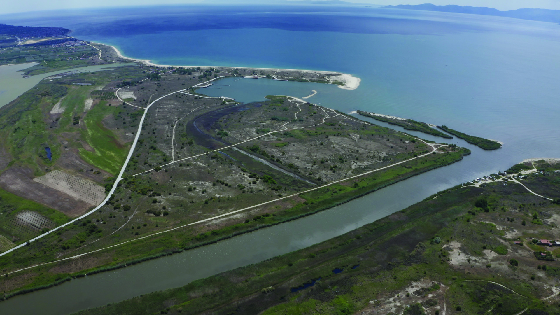
[[[116,175],[127,157],[130,143],[120,142],[113,131],[104,126],[102,120],[109,114],[117,115],[118,108],[106,106],[105,101],[101,101],[87,113],[83,119],[86,128],[80,132],[94,152],[80,149],[80,156],[87,163]]]

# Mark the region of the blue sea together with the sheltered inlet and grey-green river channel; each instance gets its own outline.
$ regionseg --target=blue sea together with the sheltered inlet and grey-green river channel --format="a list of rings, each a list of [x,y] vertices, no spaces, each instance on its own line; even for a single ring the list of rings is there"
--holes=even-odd
[[[246,103],[267,94],[302,97],[316,90],[308,101],[445,124],[499,140],[503,149],[484,151],[458,139],[410,132],[458,143],[473,154],[300,220],[21,295],[1,302],[2,314],[71,313],[181,286],[346,233],[523,159],[560,158],[560,25],[363,6],[155,7],[130,9],[121,17],[122,12],[4,15],[0,22],[68,27],[77,38],[160,64],[351,73],[362,79],[356,90],[226,78],[220,84],[230,86],[199,91]]]

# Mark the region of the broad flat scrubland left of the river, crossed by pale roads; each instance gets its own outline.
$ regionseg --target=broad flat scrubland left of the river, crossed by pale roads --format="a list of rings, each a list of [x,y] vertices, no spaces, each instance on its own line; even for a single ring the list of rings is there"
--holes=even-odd
[[[470,154],[291,96],[203,94],[226,76],[339,73],[123,66],[111,47],[72,42],[0,50],[4,63],[44,58],[30,75],[111,65],[47,77],[0,109],[4,298],[294,220]],[[91,259],[64,260],[79,254]]]

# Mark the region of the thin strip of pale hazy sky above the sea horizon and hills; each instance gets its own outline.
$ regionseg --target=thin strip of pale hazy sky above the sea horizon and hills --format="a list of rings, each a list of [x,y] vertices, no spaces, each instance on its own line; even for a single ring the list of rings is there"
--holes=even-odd
[[[224,0],[239,3],[242,0]],[[346,0],[356,3],[371,4],[421,4],[433,3],[438,5],[458,4],[460,6],[492,7],[498,10],[515,10],[518,8],[547,8],[560,10],[560,0]],[[200,3],[202,0],[3,0],[0,3],[0,14],[27,11],[57,10],[65,8],[138,6],[154,4],[189,4]],[[266,0],[263,0],[263,3]]]

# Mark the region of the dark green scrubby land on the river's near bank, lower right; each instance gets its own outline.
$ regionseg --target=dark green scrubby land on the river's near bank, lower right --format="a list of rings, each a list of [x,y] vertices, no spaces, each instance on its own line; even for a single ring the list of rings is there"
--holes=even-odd
[[[559,249],[532,242],[560,237],[559,210],[519,184],[458,186],[300,251],[79,314],[559,314],[558,297],[540,299],[558,291],[560,264],[533,254]]]

